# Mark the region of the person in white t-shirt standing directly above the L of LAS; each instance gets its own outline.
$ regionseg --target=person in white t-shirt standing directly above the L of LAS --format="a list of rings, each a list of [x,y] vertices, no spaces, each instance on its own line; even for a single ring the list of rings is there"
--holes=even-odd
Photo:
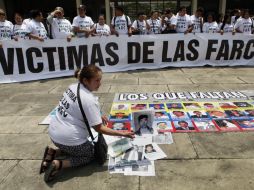
[[[176,33],[177,18],[171,9],[165,11],[165,16],[161,20],[161,25],[163,34]]]

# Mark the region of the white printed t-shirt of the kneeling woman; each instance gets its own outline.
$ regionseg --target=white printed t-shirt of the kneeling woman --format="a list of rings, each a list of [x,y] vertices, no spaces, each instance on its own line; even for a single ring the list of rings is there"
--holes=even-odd
[[[89,137],[86,124],[79,109],[77,99],[78,83],[69,86],[59,102],[56,116],[49,125],[50,138],[59,144],[76,146],[83,144]],[[89,125],[102,123],[98,98],[80,85],[80,99]]]

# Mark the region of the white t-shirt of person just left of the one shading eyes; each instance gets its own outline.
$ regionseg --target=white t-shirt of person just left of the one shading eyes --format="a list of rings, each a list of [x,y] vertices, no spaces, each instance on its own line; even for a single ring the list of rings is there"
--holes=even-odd
[[[27,31],[29,34],[33,34],[43,39],[48,39],[47,30],[41,22],[31,20],[27,25]]]

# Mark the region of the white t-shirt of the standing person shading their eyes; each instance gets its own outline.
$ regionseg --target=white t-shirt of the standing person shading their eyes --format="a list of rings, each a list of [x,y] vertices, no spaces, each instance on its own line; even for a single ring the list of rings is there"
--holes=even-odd
[[[65,39],[71,34],[72,26],[67,19],[53,18],[52,21],[52,37],[53,39]]]

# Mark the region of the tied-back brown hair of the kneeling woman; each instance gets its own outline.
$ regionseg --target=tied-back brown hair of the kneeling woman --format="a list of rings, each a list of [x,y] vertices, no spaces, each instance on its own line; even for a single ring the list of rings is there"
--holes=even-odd
[[[82,69],[77,69],[74,73],[75,78],[82,83],[84,79],[90,80],[101,72],[101,69],[95,65],[86,65]]]

